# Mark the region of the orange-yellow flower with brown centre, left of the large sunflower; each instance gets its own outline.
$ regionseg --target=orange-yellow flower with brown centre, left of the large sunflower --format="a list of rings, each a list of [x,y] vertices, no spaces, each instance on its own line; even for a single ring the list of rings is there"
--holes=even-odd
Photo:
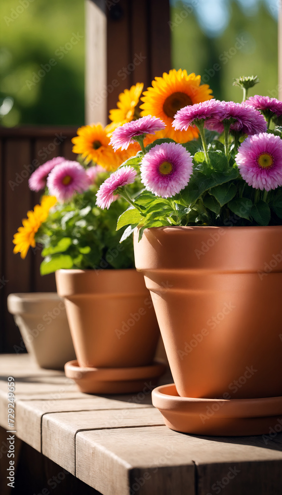
[[[78,136],[72,139],[73,152],[81,154],[87,163],[92,160],[109,171],[120,166],[118,155],[110,145],[109,131],[101,124],[82,126],[77,133]]]

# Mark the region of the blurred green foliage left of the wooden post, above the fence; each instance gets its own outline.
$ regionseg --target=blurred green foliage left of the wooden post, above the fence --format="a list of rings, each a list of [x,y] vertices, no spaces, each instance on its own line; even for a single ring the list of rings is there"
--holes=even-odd
[[[1,0],[0,19],[1,125],[83,124],[83,1]]]

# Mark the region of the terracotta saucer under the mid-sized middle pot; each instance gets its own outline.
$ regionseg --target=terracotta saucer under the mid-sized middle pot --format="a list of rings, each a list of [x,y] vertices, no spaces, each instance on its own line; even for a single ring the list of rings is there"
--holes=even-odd
[[[148,380],[156,386],[165,369],[161,361],[133,368],[88,368],[79,366],[78,361],[69,361],[65,364],[65,375],[86,394],[130,394],[140,392]]]

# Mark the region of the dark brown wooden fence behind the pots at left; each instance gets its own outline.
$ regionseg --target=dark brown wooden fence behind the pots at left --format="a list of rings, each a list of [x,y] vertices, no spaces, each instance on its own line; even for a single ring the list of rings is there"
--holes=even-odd
[[[29,209],[39,202],[40,193],[28,187],[30,174],[54,156],[75,160],[71,138],[77,128],[0,128],[0,352],[15,352],[21,337],[6,306],[14,292],[55,291],[54,274],[40,276],[39,249],[26,259],[13,254],[13,234]]]

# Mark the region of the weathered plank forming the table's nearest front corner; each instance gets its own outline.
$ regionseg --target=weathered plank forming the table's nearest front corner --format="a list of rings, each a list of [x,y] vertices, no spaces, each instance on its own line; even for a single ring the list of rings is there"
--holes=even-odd
[[[76,436],[76,476],[104,495],[194,495],[194,472],[186,435],[162,426]]]

